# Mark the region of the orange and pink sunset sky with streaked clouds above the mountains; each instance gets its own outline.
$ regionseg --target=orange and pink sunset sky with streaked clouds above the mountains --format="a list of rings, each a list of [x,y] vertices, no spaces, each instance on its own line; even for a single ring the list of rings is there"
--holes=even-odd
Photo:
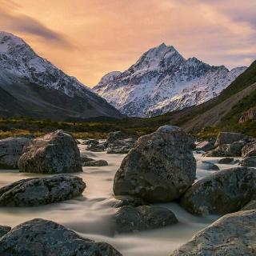
[[[162,42],[184,58],[249,66],[255,13],[255,0],[0,0],[0,30],[94,86]]]

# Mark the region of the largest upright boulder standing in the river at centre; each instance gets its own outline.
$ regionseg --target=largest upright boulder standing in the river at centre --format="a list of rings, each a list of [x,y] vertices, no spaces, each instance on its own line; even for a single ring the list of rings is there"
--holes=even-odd
[[[138,138],[114,176],[114,194],[168,202],[178,198],[195,179],[193,141],[183,130],[162,126]]]

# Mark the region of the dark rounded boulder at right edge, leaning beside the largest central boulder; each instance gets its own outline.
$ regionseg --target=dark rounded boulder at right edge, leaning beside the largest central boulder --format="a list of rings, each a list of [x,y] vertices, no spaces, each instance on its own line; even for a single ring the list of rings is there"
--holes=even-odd
[[[235,167],[195,182],[182,195],[181,205],[192,214],[228,214],[256,196],[256,170]]]

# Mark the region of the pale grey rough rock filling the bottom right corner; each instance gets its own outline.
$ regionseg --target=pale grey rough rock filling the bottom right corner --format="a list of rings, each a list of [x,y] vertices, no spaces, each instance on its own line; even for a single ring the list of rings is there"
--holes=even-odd
[[[227,214],[175,250],[170,256],[254,256],[256,210]]]

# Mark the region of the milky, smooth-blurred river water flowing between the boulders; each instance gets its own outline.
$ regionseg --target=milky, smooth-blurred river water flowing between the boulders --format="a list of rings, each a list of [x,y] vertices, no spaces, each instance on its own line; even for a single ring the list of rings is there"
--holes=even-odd
[[[83,173],[78,174],[86,182],[86,190],[82,198],[48,206],[38,207],[8,207],[0,209],[0,225],[16,226],[32,218],[45,218],[58,222],[85,238],[109,242],[124,256],[167,256],[187,242],[198,230],[202,230],[214,222],[218,216],[195,217],[183,210],[176,203],[162,203],[174,212],[178,224],[158,230],[134,232],[132,234],[114,234],[114,214],[111,207],[113,197],[113,178],[125,154],[93,153],[80,146],[82,153],[95,159],[105,159],[109,166],[83,167]],[[203,170],[201,160],[218,162],[220,158],[203,158],[202,154],[194,154],[198,161],[197,178],[213,173]],[[236,165],[218,165],[220,169]],[[34,174],[20,174],[18,170],[0,170],[0,187],[22,178],[38,177]]]

